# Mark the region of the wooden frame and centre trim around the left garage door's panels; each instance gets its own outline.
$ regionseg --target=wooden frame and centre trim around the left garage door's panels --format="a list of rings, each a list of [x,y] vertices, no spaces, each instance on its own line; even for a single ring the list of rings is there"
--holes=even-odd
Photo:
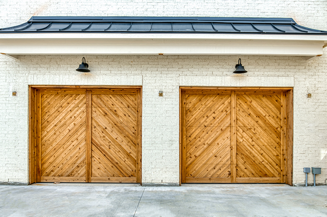
[[[41,94],[85,94],[86,170],[85,177],[41,176]],[[136,177],[91,177],[92,94],[136,96]],[[118,96],[120,97],[120,96]],[[29,86],[29,183],[34,182],[136,182],[142,181],[142,87],[139,86]],[[134,152],[135,153],[135,152]]]

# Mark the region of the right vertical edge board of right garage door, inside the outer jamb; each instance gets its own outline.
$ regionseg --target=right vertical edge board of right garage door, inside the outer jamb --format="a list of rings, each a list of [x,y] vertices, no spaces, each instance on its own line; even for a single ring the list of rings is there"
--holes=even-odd
[[[285,183],[286,172],[286,143],[287,143],[287,97],[286,92],[281,94],[281,183]]]

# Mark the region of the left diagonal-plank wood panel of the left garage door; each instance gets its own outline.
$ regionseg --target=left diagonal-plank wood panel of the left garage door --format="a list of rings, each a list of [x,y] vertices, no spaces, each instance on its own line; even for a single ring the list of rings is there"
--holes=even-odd
[[[85,94],[41,95],[41,181],[85,181]]]

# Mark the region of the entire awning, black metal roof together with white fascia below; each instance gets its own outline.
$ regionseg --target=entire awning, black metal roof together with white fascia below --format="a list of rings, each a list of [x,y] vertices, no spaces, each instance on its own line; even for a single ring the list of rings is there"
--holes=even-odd
[[[327,32],[292,18],[32,17],[0,29],[5,55],[321,56]]]

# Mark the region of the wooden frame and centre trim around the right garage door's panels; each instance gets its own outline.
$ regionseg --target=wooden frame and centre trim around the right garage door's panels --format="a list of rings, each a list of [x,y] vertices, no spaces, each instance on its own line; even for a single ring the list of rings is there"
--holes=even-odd
[[[293,88],[226,88],[226,87],[180,87],[180,183],[287,183],[292,185],[293,153]],[[189,178],[186,177],[186,94],[215,94],[231,96],[231,177],[229,178]],[[279,95],[281,97],[281,177],[237,177],[236,175],[236,96],[237,95]],[[253,96],[254,97],[254,96]]]

